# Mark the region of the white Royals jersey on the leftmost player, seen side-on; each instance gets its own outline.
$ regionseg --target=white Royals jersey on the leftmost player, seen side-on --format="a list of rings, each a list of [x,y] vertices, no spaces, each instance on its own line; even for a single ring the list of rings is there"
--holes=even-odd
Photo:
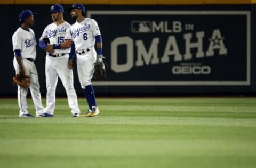
[[[13,51],[19,49],[22,58],[36,59],[36,37],[32,29],[18,28],[12,35]]]

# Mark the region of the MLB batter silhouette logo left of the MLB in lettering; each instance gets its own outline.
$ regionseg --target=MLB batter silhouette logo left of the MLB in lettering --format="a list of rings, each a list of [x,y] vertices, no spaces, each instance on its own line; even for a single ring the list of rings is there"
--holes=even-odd
[[[135,32],[135,33],[151,32],[151,22],[149,22],[149,21],[132,21],[132,32]]]

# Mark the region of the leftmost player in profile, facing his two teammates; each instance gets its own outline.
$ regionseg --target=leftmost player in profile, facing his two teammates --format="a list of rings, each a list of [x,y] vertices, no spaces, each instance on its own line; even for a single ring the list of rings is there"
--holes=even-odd
[[[30,10],[22,11],[19,14],[21,27],[12,36],[14,51],[13,66],[16,74],[29,75],[30,93],[35,105],[36,116],[44,116],[44,107],[41,101],[38,74],[34,61],[36,59],[36,38],[31,26],[34,25],[34,15]],[[20,108],[20,118],[31,118],[33,115],[27,109],[28,89],[18,86],[18,104]]]

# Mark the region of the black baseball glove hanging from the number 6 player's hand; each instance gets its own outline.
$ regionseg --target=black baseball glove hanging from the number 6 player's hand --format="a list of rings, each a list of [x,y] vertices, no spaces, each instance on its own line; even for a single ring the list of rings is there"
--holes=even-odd
[[[94,78],[106,78],[106,63],[103,62],[105,58],[102,55],[97,55],[97,61],[94,64]]]

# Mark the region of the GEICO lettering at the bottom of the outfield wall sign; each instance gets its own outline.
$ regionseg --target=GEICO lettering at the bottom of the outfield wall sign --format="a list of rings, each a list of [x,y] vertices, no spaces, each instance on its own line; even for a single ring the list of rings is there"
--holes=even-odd
[[[173,74],[210,74],[210,66],[173,66]]]

